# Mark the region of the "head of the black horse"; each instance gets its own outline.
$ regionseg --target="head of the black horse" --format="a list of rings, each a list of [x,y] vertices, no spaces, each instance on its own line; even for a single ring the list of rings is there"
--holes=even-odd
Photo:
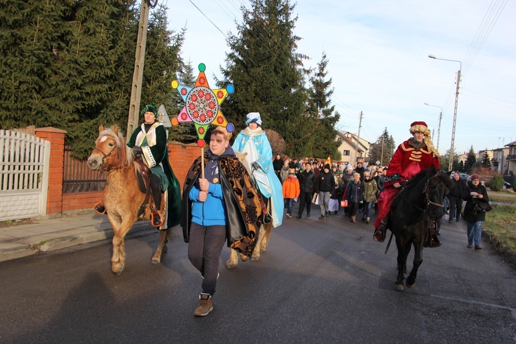
[[[431,166],[427,181],[426,193],[428,202],[428,215],[430,219],[437,221],[444,215],[444,197],[453,185],[450,179],[450,172],[438,171]]]

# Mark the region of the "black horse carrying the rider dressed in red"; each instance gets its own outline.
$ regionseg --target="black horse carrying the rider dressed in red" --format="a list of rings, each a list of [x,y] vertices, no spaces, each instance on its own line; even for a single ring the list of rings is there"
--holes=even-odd
[[[450,173],[444,173],[431,166],[420,171],[396,195],[387,226],[396,236],[398,248],[398,279],[396,289],[403,290],[404,272],[411,245],[414,246],[414,261],[407,287],[416,283],[418,268],[423,261],[425,241],[431,241],[429,225],[440,219],[444,213],[444,196],[451,188]]]

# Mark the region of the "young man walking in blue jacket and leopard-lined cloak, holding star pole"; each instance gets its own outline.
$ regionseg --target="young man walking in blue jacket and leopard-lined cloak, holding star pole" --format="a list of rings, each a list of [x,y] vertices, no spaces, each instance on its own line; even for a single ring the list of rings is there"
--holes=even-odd
[[[259,230],[259,196],[229,146],[229,136],[224,127],[213,129],[210,148],[204,153],[204,178],[199,157],[183,186],[183,237],[188,243],[189,260],[203,278],[195,316],[206,316],[213,310],[220,253],[226,239],[228,246],[249,257]]]

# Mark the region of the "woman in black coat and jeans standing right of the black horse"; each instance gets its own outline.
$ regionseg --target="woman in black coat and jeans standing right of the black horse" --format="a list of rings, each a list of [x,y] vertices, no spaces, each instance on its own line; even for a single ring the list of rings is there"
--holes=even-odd
[[[480,184],[480,175],[471,175],[471,181],[466,186],[464,194],[464,219],[468,228],[468,247],[482,250],[480,238],[482,237],[482,221],[486,221],[486,211],[482,208],[489,202],[486,186]]]

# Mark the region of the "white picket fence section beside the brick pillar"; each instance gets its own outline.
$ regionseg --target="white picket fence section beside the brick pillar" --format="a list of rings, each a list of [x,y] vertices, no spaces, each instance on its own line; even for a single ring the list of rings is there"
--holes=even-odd
[[[50,142],[0,130],[0,221],[46,214]]]

